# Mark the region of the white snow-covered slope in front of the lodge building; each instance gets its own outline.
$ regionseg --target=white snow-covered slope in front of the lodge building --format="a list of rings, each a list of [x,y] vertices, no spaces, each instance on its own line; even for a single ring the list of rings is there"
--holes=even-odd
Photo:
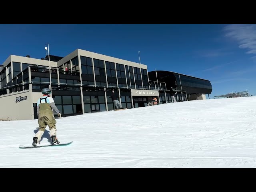
[[[197,100],[57,121],[69,146],[32,144],[37,120],[0,121],[0,168],[256,167],[256,97]],[[49,128],[42,137],[48,143]]]

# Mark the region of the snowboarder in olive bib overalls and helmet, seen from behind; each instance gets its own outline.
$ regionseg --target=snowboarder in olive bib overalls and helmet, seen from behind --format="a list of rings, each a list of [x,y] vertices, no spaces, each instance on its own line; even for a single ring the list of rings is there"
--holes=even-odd
[[[52,109],[58,113],[58,116],[61,117],[61,113],[58,108],[55,106],[54,100],[50,97],[52,94],[51,90],[48,88],[42,89],[43,96],[38,99],[37,102],[37,115],[38,115],[38,125],[39,130],[33,137],[33,146],[40,144],[41,137],[44,134],[46,125],[50,128],[51,144],[59,144],[58,138],[56,137],[56,120],[53,116]]]

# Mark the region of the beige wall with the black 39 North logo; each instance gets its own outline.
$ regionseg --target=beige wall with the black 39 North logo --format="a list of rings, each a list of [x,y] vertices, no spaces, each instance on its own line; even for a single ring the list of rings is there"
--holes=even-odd
[[[19,97],[26,97],[26,100],[18,101]],[[0,106],[0,119],[34,119],[32,92],[29,90],[0,96]]]

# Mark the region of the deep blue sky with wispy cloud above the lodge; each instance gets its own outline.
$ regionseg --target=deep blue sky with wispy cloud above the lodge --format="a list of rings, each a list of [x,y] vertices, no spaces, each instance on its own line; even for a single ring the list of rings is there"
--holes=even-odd
[[[0,64],[11,54],[66,56],[77,48],[210,80],[212,94],[256,95],[256,25],[0,24]]]

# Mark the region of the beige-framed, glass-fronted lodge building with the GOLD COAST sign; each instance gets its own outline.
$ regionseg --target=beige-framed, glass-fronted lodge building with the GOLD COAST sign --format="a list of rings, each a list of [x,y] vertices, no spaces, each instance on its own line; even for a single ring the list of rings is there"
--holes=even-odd
[[[81,49],[65,57],[50,55],[50,61],[48,56],[36,59],[10,55],[2,66],[0,118],[8,120],[37,119],[36,102],[43,88],[52,89],[62,116],[113,110],[114,104],[108,97],[111,90],[119,94],[122,106],[129,109],[174,102],[171,96],[179,92],[178,86],[169,89],[174,79],[163,81],[160,71],[158,81],[144,64]],[[188,88],[193,90],[193,86]],[[200,92],[193,94],[196,93]]]

